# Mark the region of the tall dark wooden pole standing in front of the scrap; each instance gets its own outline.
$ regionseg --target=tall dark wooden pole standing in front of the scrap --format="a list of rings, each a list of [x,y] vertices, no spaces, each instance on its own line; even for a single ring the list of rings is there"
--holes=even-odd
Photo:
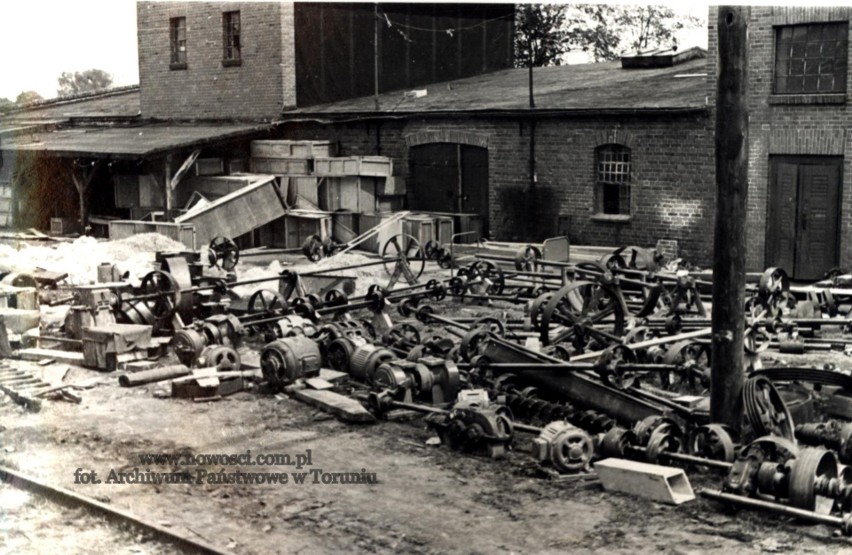
[[[745,381],[746,206],[748,198],[749,9],[720,6],[716,81],[716,227],[710,419],[739,430]]]

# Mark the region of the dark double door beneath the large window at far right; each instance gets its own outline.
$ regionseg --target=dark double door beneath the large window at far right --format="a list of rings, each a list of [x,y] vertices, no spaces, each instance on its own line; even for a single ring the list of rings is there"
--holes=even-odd
[[[773,159],[767,262],[798,279],[838,264],[840,158]]]

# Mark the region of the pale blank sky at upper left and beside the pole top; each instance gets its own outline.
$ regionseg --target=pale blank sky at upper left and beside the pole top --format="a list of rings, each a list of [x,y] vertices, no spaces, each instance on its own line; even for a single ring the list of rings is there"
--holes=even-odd
[[[706,3],[683,4],[671,5],[679,13],[706,18]],[[678,38],[681,48],[707,46],[704,29],[689,30]],[[114,86],[133,85],[139,82],[136,56],[135,0],[0,4],[0,98],[15,100],[30,90],[54,98],[62,72],[93,68],[112,74]]]

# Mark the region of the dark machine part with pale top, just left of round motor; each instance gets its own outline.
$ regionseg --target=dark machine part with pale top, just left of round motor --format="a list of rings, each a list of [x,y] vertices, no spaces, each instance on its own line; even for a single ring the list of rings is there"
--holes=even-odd
[[[459,392],[458,401],[445,414],[432,414],[427,424],[451,449],[502,458],[514,433],[508,407],[490,401],[485,390]]]

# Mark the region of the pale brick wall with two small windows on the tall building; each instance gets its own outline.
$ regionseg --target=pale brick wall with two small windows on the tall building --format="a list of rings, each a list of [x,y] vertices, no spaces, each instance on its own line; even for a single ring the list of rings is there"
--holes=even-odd
[[[222,13],[239,10],[241,65],[222,65]],[[186,17],[186,69],[170,68],[169,19]],[[139,2],[142,116],[269,120],[296,104],[293,5]]]

